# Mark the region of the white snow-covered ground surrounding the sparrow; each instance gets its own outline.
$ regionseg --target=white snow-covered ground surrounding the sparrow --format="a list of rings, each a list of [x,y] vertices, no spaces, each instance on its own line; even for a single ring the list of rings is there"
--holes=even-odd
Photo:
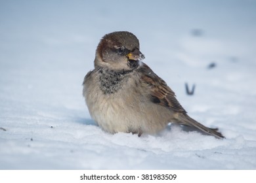
[[[0,169],[256,169],[255,23],[249,0],[0,1]],[[188,114],[226,139],[94,124],[83,77],[100,38],[123,30]]]

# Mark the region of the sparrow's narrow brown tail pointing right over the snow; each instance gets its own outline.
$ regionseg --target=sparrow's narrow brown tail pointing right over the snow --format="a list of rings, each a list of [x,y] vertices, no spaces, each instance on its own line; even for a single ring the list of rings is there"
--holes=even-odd
[[[190,116],[188,116],[187,114],[179,114],[179,122],[182,122],[182,124],[184,125],[189,125],[192,127],[196,127],[200,130],[202,130],[203,132],[209,134],[209,135],[213,135],[214,137],[216,137],[217,139],[223,139],[225,138],[219,131],[218,128],[209,128],[206,127],[202,124],[200,124],[199,122],[197,122],[196,120],[190,118]]]

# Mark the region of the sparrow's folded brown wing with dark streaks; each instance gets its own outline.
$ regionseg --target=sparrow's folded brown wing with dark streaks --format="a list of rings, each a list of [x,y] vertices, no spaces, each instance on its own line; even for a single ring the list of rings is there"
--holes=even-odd
[[[152,103],[170,108],[175,112],[186,113],[175,97],[175,93],[166,82],[156,75],[148,65],[142,63],[138,68],[140,73],[140,81],[145,90],[148,91],[148,97]]]

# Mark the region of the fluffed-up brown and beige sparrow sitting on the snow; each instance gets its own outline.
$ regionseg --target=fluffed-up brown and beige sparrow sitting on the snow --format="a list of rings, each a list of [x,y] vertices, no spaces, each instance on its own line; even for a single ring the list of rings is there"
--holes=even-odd
[[[85,76],[83,96],[96,124],[109,133],[154,134],[169,122],[224,136],[186,114],[165,81],[143,63],[139,40],[127,31],[105,35],[96,48],[95,69]]]

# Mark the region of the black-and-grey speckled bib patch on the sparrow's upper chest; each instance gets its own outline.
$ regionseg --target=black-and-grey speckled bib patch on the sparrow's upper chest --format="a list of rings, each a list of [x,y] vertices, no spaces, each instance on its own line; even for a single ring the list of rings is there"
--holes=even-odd
[[[99,81],[100,90],[105,94],[113,94],[119,92],[121,88],[128,82],[129,73],[128,71],[110,71],[110,70],[100,70]]]

